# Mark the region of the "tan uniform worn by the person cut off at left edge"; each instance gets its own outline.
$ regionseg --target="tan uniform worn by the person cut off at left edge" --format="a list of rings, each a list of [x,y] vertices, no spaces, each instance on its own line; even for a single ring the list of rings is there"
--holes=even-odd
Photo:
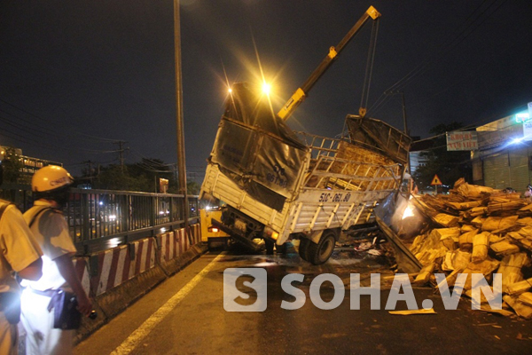
[[[4,203],[0,201],[0,206]],[[41,255],[19,209],[8,206],[0,217],[0,292],[20,292],[12,272],[24,270]],[[0,312],[0,354],[17,354],[18,341],[17,326]]]

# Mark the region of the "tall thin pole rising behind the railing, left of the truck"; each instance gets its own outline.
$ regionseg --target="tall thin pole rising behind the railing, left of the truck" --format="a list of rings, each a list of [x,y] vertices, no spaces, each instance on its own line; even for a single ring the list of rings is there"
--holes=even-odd
[[[179,193],[183,194],[184,197],[184,228],[188,233],[189,205],[186,191],[186,164],[184,160],[183,78],[181,73],[181,20],[179,19],[179,0],[174,0],[174,51],[176,66],[177,170],[179,175]]]

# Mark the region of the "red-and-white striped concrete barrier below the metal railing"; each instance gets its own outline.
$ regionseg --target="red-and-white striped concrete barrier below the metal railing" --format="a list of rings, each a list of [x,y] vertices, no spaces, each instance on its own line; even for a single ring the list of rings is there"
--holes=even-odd
[[[189,238],[190,237],[190,238]],[[97,319],[83,319],[74,339],[79,343],[161,281],[207,251],[201,228],[191,225],[153,238],[74,260],[83,288],[93,300]]]

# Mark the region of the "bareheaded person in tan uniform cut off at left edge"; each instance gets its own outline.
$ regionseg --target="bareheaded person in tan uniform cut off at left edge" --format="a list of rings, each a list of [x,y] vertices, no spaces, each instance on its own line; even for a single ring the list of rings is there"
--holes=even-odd
[[[19,352],[20,288],[12,272],[23,279],[39,280],[42,255],[20,210],[0,200],[0,354]]]

